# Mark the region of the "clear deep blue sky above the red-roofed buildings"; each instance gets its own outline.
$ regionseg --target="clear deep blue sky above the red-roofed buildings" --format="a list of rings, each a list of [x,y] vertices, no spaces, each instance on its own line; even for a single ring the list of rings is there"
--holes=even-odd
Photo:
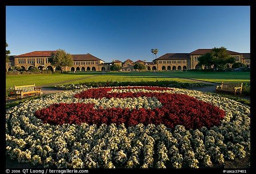
[[[10,55],[62,49],[151,62],[224,46],[250,52],[250,6],[6,6]]]

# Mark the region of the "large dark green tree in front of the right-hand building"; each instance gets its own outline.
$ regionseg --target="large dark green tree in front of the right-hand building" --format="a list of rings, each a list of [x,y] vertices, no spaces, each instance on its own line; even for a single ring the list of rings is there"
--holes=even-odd
[[[235,58],[228,54],[228,51],[225,47],[221,46],[220,48],[214,47],[210,53],[206,53],[198,58],[199,65],[214,66],[217,68],[224,68],[228,63],[234,63]]]

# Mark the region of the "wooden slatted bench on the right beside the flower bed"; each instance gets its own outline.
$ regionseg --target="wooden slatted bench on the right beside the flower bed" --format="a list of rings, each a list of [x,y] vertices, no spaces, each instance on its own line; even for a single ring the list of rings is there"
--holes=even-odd
[[[236,93],[241,95],[243,83],[224,83],[222,81],[220,86],[216,86],[216,93],[218,91],[232,92],[236,96]]]

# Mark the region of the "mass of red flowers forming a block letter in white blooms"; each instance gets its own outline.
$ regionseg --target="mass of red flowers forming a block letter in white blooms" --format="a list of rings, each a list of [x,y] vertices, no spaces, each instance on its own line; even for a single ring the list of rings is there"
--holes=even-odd
[[[166,90],[161,87],[117,87],[116,89],[148,89]],[[164,124],[168,128],[183,125],[188,129],[210,128],[220,124],[225,112],[216,106],[199,101],[184,94],[171,93],[108,93],[113,88],[88,89],[75,95],[77,98],[126,98],[126,97],[157,97],[161,108],[129,109],[102,108],[94,109],[94,104],[71,103],[52,104],[48,108],[36,111],[35,116],[48,124],[112,124],[124,123],[125,126],[135,126],[142,123]]]

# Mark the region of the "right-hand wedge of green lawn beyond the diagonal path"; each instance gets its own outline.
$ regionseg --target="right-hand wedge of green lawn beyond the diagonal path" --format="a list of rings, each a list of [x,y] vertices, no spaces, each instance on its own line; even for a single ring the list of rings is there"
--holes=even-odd
[[[201,81],[210,81],[214,83],[221,83],[221,81],[229,83],[243,82],[250,85],[251,79],[250,72],[160,71],[157,73]]]

